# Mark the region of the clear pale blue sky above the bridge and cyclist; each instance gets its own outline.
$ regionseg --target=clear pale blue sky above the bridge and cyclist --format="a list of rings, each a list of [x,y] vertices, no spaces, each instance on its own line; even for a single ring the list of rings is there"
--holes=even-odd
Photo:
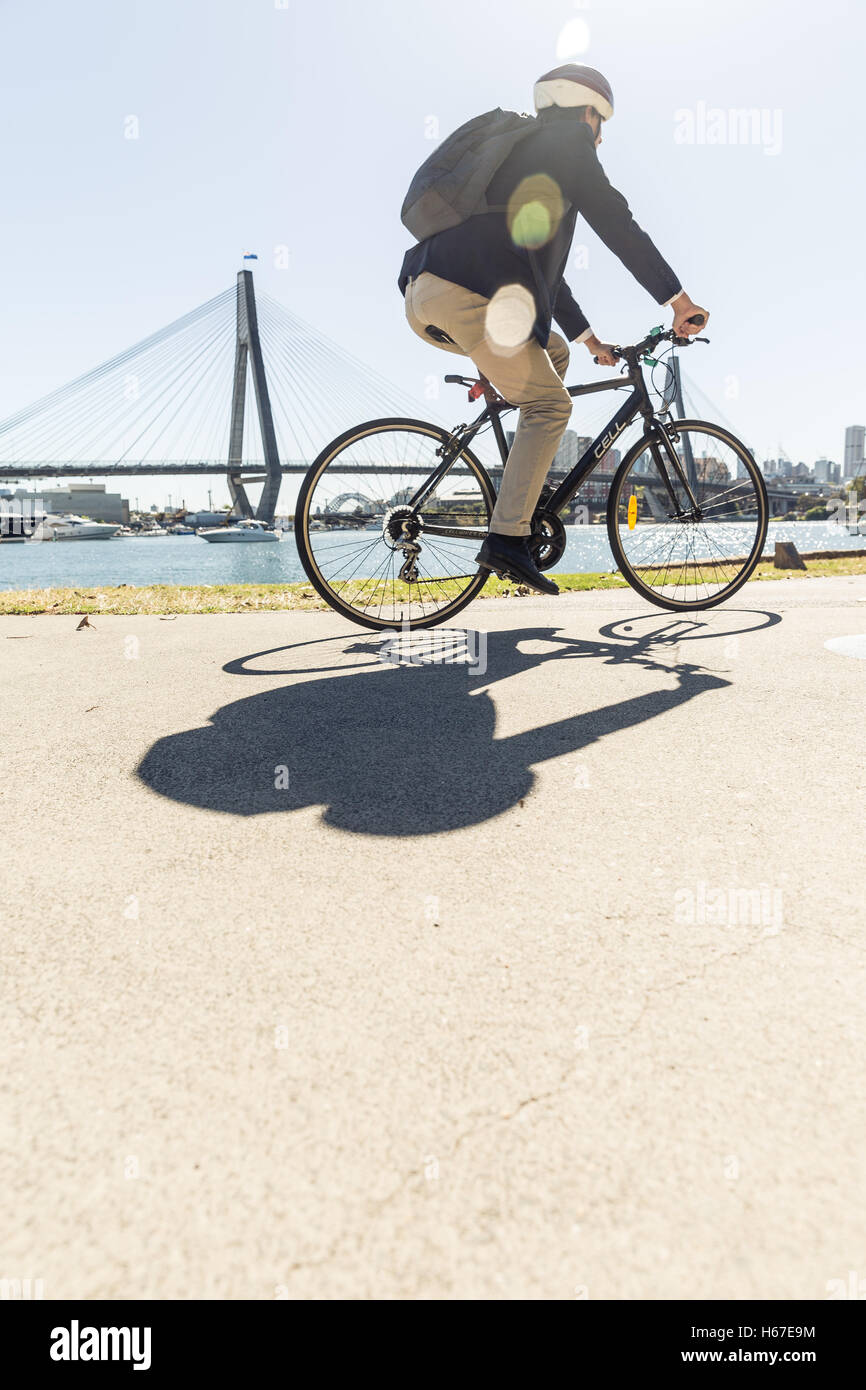
[[[531,108],[534,79],[575,58],[614,88],[610,179],[712,311],[712,346],[689,349],[687,371],[759,456],[838,461],[845,425],[866,421],[865,13],[0,0],[0,418],[217,295],[245,250],[260,289],[421,398],[430,373],[453,370],[411,335],[396,289],[400,202],[432,122],[443,136],[492,106]],[[755,128],[731,126],[738,108]],[[575,243],[587,264],[567,278],[601,336],[662,321],[580,222]],[[575,352],[569,379],[587,379],[598,368]],[[185,493],[200,502],[206,485]]]

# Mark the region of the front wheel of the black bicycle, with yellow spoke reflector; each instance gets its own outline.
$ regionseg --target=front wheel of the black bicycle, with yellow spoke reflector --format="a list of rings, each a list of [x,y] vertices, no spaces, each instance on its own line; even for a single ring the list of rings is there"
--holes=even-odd
[[[752,455],[703,420],[666,421],[638,439],[607,502],[623,577],[674,612],[714,607],[735,594],[760,560],[767,521],[767,489]]]

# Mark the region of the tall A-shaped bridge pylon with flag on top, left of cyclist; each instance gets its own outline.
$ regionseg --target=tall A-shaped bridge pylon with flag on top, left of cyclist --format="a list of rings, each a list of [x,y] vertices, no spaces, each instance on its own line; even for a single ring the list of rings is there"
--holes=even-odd
[[[271,398],[268,395],[264,359],[261,356],[261,339],[259,336],[259,316],[256,313],[256,292],[253,289],[253,272],[238,271],[238,310],[235,336],[235,379],[232,386],[232,414],[228,435],[228,492],[232,499],[232,512],[236,516],[252,517],[253,506],[243,485],[243,411],[246,404],[246,367],[253,373],[253,391],[256,392],[256,409],[259,411],[259,430],[261,434],[261,448],[264,450],[264,486],[259,499],[259,509],[254,513],[257,520],[274,524],[277,514],[277,499],[282,481],[279,467],[279,450],[277,448],[277,434],[274,431],[274,414]],[[260,481],[259,478],[247,481]]]

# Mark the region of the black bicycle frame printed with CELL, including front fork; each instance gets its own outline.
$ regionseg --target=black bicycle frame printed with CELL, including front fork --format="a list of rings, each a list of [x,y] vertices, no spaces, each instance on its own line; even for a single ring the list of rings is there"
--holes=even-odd
[[[683,471],[683,466],[677,457],[676,449],[673,448],[667,430],[664,428],[662,420],[659,420],[659,417],[656,416],[653,403],[646,389],[646,382],[644,381],[644,373],[641,371],[637,357],[634,360],[627,359],[627,364],[628,364],[628,371],[620,377],[610,377],[606,381],[592,382],[585,386],[566,386],[566,391],[571,398],[589,396],[601,391],[623,391],[626,388],[631,388],[631,393],[628,399],[623,402],[616,414],[612,416],[605,428],[596,435],[589,448],[584,450],[578,461],[566,474],[562,482],[555,488],[552,495],[545,500],[545,510],[555,512],[557,514],[566,510],[575,492],[595,471],[595,468],[599,466],[607,450],[612,449],[616,441],[620,438],[623,431],[626,431],[628,425],[638,416],[642,416],[646,424],[646,438],[649,441],[649,446],[656,467],[659,468],[664,486],[667,488],[667,492],[673,502],[674,514],[680,516],[683,514],[683,510],[677,502],[676,492],[671,486],[670,478],[664,468],[662,450],[664,450],[664,453],[667,455],[671,467],[674,468],[680,482],[685,489],[685,495],[688,496],[691,506],[695,510],[698,509],[698,502],[691,489],[689,480]],[[468,448],[468,445],[473,442],[478,431],[482,430],[487,424],[489,424],[493,431],[493,438],[496,439],[499,455],[502,457],[502,464],[505,467],[507,463],[509,446],[505,438],[505,431],[502,428],[500,416],[509,410],[517,410],[517,409],[520,407],[512,404],[499,404],[493,402],[485,406],[485,409],[481,411],[478,418],[473,421],[473,424],[459,425],[449,436],[448,443],[443,445],[442,463],[439,464],[438,468],[434,470],[434,473],[431,473],[430,478],[427,478],[425,482],[418,488],[418,491],[410,499],[409,506],[421,507],[424,505],[427,498],[431,496],[432,492],[435,492],[441,481],[446,477],[450,468],[453,468],[455,463],[459,460],[463,450]],[[452,452],[448,445],[453,445],[455,452]],[[689,473],[692,470],[689,468]],[[436,527],[435,524],[434,525],[428,524],[425,530],[431,535],[434,534],[442,534],[442,535],[459,534],[463,537],[470,535],[468,530],[452,532],[450,527]],[[474,532],[471,534],[474,535]],[[485,532],[478,531],[478,537],[482,537],[484,534]]]

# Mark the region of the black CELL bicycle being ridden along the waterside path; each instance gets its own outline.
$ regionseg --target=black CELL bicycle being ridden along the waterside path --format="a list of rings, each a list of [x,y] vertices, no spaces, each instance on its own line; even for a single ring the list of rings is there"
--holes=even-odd
[[[746,582],[763,552],[769,505],[758,464],[728,430],[674,418],[666,400],[653,404],[644,366],[656,366],[651,353],[666,341],[683,348],[708,339],[653,328],[642,342],[616,349],[621,374],[566,388],[574,398],[630,395],[567,475],[545,485],[530,545],[541,570],[562,559],[563,514],[641,416],[644,432],[610,484],[607,538],[620,573],[642,598],[688,612],[723,603]],[[489,427],[505,467],[502,417],[518,407],[485,378],[445,381],[467,386],[470,400],[484,395],[477,420],[452,431],[423,420],[370,420],[331,441],[304,475],[295,510],[302,564],[316,592],[361,627],[443,623],[489,578],[475,552],[496,493],[470,445]]]

